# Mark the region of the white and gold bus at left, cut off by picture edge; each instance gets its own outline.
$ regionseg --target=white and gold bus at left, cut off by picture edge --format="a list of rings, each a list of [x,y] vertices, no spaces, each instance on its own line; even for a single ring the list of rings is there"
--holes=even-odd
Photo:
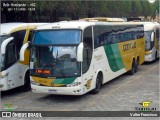
[[[29,49],[25,59],[19,61],[20,49],[31,40],[33,30],[45,23],[2,23],[0,30],[0,91],[21,86],[21,90],[30,89]]]

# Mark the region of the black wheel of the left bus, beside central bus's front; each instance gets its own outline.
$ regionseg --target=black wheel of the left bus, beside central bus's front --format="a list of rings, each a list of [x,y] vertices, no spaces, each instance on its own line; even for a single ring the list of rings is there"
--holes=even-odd
[[[20,87],[21,91],[27,92],[31,90],[29,71],[25,75],[24,85]]]

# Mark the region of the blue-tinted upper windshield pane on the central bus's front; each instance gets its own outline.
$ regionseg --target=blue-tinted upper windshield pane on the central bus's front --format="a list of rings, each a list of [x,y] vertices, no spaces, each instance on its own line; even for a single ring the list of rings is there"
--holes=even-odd
[[[34,34],[35,45],[70,45],[79,44],[81,31],[74,30],[45,30],[36,31]]]

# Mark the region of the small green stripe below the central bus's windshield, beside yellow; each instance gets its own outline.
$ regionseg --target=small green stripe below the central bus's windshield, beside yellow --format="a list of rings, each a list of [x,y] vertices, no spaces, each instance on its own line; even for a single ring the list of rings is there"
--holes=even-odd
[[[61,78],[61,79],[55,79],[54,84],[71,84],[75,81],[75,77],[72,78]]]

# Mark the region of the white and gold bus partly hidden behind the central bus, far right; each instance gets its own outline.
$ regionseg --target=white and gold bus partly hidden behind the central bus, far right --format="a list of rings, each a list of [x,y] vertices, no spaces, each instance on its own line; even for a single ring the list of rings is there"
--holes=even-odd
[[[156,22],[144,22],[143,24],[146,39],[145,61],[156,61],[160,54],[160,24]]]

